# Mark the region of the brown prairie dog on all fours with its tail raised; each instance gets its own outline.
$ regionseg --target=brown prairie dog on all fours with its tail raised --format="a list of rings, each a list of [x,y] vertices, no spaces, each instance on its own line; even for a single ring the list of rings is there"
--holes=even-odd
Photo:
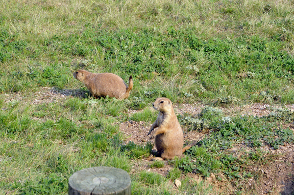
[[[133,88],[132,76],[129,78],[129,86],[123,79],[112,73],[92,73],[86,70],[73,72],[73,77],[82,82],[94,97],[115,97],[123,100],[129,97],[130,90]]]

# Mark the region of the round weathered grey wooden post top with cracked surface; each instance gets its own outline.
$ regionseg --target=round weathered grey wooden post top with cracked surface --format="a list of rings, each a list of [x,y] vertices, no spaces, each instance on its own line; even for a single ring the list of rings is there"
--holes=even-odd
[[[69,195],[131,195],[131,179],[122,169],[83,169],[70,177]]]

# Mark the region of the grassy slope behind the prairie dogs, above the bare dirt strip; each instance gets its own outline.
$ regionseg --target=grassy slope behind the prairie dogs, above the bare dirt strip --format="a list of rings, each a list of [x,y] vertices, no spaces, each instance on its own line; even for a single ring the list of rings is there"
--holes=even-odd
[[[144,11],[137,1],[16,3],[15,12],[3,9],[0,91],[81,87],[71,72],[85,68],[117,73],[124,80],[132,74],[131,97],[146,101],[166,96],[177,102],[227,97],[245,103],[294,102],[291,4],[153,3]],[[25,14],[31,9],[35,17]],[[113,9],[138,12],[119,12],[116,18],[109,15]]]

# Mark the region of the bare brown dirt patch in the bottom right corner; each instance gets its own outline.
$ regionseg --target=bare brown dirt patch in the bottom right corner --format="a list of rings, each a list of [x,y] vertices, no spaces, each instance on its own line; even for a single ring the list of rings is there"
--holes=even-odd
[[[260,194],[292,195],[294,192],[294,145],[285,144],[278,150],[268,146],[261,147],[271,156],[268,163],[260,166],[248,166],[251,172],[258,173],[259,178],[251,178],[246,183],[250,189]]]

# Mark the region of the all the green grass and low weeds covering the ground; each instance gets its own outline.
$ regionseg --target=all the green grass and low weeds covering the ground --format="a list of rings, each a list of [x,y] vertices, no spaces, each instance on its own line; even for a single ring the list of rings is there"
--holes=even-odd
[[[294,104],[291,1],[0,4],[0,194],[65,195],[71,174],[98,165],[130,172],[134,161],[149,156],[152,145],[123,144],[119,124],[152,123],[157,112],[146,107],[157,97],[174,104],[209,105],[197,117],[178,117],[185,130],[206,136],[186,157],[170,162],[173,169],[166,177],[131,174],[135,195],[213,194],[212,185],[193,183],[185,174],[223,173],[230,182],[242,183],[257,178],[246,169],[248,164],[275,158],[261,146],[277,149],[294,140],[291,130],[277,125],[294,120],[291,110],[256,118],[226,116],[217,108]],[[132,75],[130,97],[93,99],[73,79],[76,69],[112,72],[124,81]],[[73,97],[31,103],[46,87],[72,91]],[[128,116],[128,109],[143,110]],[[236,144],[244,144],[249,152],[232,155],[227,149]],[[171,184],[176,178],[181,178],[179,189]],[[234,190],[250,192],[245,186]]]

